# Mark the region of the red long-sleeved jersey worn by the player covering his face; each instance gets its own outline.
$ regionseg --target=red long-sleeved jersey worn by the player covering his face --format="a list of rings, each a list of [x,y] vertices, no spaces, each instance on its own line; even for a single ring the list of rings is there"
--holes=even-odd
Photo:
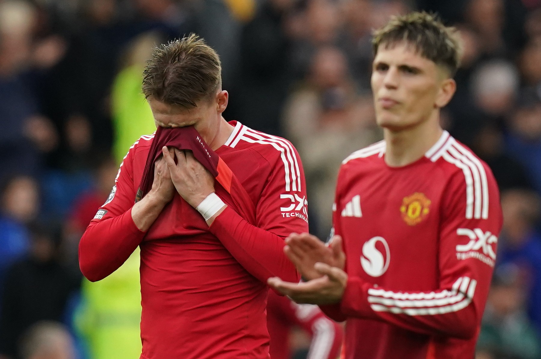
[[[254,202],[256,226],[216,182],[228,207],[210,228],[175,196],[147,233],[138,231],[131,207],[153,140],[143,136],[81,239],[80,265],[90,280],[113,272],[140,245],[141,359],[269,357],[266,280],[298,280],[283,239],[308,229],[304,172],[289,141],[231,124],[232,135],[215,152]]]

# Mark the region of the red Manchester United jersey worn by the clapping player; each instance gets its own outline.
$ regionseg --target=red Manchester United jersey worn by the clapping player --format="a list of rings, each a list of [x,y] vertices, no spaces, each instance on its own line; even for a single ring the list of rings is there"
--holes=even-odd
[[[385,141],[344,160],[333,223],[349,275],[346,359],[466,359],[489,291],[502,210],[489,167],[445,131],[389,167]]]

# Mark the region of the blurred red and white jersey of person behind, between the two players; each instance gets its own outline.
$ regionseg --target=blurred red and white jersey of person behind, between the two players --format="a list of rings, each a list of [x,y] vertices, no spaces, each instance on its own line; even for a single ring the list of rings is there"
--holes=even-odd
[[[304,329],[311,337],[306,359],[336,359],[344,336],[341,325],[328,319],[318,306],[297,304],[272,290],[267,303],[267,327],[271,359],[291,358],[289,334],[294,327]]]

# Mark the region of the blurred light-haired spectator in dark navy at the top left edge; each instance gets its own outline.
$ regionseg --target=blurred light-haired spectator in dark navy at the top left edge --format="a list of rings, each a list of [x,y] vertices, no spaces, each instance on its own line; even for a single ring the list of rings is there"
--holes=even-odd
[[[57,134],[39,112],[29,76],[35,23],[27,2],[0,3],[0,180],[37,174],[41,152],[56,146]]]

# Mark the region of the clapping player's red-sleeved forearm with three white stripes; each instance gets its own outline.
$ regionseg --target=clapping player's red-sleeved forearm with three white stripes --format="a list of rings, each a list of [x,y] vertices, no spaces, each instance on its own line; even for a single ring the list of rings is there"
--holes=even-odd
[[[485,297],[485,288],[478,288],[478,282],[467,276],[457,278],[452,287],[431,292],[393,292],[349,277],[340,308],[346,316],[385,321],[421,334],[469,339],[477,335]]]

